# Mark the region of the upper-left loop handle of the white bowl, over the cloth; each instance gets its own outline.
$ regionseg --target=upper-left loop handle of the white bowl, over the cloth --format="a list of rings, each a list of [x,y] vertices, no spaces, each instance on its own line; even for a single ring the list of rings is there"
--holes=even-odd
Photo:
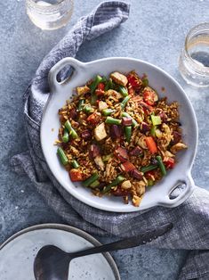
[[[79,71],[84,70],[83,62],[79,62],[73,57],[63,58],[62,60],[60,60],[60,62],[57,62],[49,71],[48,81],[52,91],[59,91],[59,88],[65,86],[68,78],[64,81],[58,82],[57,75],[60,72],[60,70],[62,70],[67,65],[71,66],[74,69],[73,70],[74,77]]]

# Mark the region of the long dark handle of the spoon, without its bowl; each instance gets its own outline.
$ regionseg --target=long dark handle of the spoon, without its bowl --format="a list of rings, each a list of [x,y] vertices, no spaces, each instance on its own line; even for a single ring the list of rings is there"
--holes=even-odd
[[[69,255],[71,255],[72,258],[74,259],[77,257],[92,255],[92,254],[106,252],[106,251],[117,251],[117,250],[133,248],[145,243],[149,243],[161,235],[165,235],[165,233],[171,230],[172,228],[173,228],[173,224],[167,223],[163,226],[159,226],[157,229],[154,229],[152,231],[147,231],[141,235],[132,236],[129,238],[125,238],[123,240],[119,240],[114,243],[100,245],[97,247],[93,247],[91,249],[86,249],[84,251],[69,253]]]

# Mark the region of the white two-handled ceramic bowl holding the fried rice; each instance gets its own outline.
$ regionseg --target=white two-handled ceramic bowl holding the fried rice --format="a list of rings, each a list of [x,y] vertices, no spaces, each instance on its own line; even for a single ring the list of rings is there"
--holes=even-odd
[[[67,65],[71,65],[74,68],[73,75],[70,79],[59,83],[57,74]],[[103,196],[101,198],[94,196],[88,188],[84,188],[79,183],[73,184],[68,177],[68,172],[58,160],[57,147],[54,145],[60,128],[58,110],[72,95],[73,89],[76,86],[84,85],[87,80],[96,74],[108,76],[114,70],[121,72],[136,70],[139,74],[146,73],[149,78],[149,85],[157,90],[160,97],[167,96],[169,103],[177,101],[180,104],[183,141],[189,146],[187,150],[179,153],[178,163],[175,168],[169,171],[167,176],[157,185],[154,185],[146,192],[140,207],[134,207],[131,202],[128,205],[124,204],[122,198],[114,196]],[[50,70],[49,84],[51,95],[43,114],[41,144],[49,168],[68,193],[92,207],[114,212],[146,210],[157,205],[176,207],[189,197],[194,189],[190,169],[197,150],[197,119],[192,105],[181,86],[164,70],[148,62],[131,58],[108,58],[87,63],[79,62],[73,58],[65,58]],[[162,91],[162,87],[165,87],[165,92]],[[175,199],[171,199],[169,194],[177,185],[182,185],[182,183],[185,183],[185,187],[181,194]]]

